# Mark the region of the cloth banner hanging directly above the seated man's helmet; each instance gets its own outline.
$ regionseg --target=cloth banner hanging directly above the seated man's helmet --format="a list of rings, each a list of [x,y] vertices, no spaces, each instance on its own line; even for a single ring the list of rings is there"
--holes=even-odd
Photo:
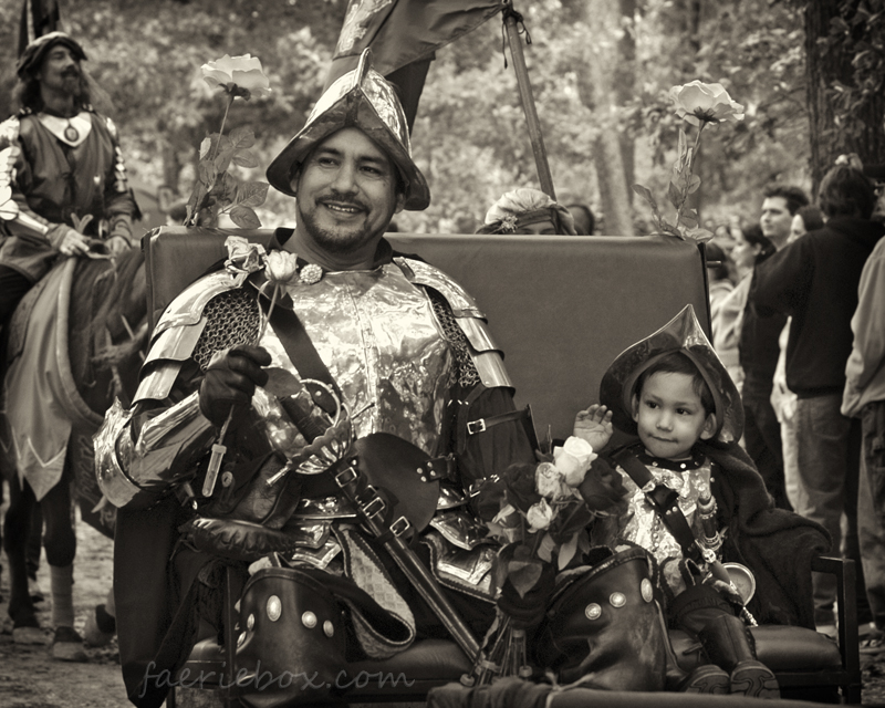
[[[503,0],[351,0],[325,88],[372,48],[373,66],[399,90],[409,131],[434,52],[501,10]]]

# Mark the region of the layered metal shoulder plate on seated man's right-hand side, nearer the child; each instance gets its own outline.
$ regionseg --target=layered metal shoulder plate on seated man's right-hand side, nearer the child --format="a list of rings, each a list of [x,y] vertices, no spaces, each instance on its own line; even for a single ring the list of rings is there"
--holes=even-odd
[[[445,299],[458,329],[469,344],[467,351],[482,385],[487,388],[497,386],[512,388],[513,383],[504,368],[503,354],[491,337],[486,314],[460,283],[448,273],[424,261],[402,257],[394,260],[409,282],[430,288]],[[440,322],[440,324],[446,330],[446,323]],[[452,344],[457,346],[457,343]]]

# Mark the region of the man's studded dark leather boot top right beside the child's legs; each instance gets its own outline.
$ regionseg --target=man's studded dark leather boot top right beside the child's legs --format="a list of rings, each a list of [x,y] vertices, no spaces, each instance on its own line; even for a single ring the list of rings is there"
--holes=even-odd
[[[554,595],[535,654],[562,684],[663,690],[669,638],[643,549],[612,554]]]

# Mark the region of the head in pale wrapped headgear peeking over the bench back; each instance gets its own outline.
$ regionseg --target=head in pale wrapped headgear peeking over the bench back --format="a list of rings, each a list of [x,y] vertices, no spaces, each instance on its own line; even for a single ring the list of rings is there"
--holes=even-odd
[[[477,233],[576,236],[569,210],[543,191],[529,187],[501,195],[486,212],[485,223]]]

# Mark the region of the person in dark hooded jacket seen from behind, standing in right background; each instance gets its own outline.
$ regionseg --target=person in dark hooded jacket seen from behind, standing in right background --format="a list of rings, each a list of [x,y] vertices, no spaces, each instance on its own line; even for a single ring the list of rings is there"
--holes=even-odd
[[[823,525],[833,539],[833,550],[852,558],[856,552],[850,543],[852,537],[856,543],[861,430],[860,421],[843,416],[841,407],[857,285],[885,226],[870,219],[875,190],[853,167],[831,168],[821,181],[818,199],[826,225],[757,266],[750,302],[760,319],[773,313],[793,319],[787,345],[787,385],[796,394],[802,488],[796,512]],[[844,551],[843,513],[848,519]],[[833,625],[832,575],[815,574],[814,601],[816,624]]]

